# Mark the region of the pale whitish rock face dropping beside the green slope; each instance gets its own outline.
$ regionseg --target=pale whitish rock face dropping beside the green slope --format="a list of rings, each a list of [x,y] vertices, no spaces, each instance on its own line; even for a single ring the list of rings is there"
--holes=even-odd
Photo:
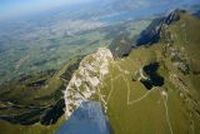
[[[69,118],[82,102],[88,101],[101,81],[109,72],[109,62],[113,55],[109,49],[100,48],[96,53],[86,56],[70,80],[65,96],[66,116]]]

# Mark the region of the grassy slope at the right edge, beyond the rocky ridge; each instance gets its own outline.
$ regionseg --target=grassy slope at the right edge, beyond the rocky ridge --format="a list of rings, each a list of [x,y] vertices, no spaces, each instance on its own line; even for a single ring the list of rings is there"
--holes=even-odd
[[[185,53],[188,57],[190,57],[190,62],[193,70],[200,69],[200,52],[199,52],[199,42],[200,42],[200,31],[197,30],[200,28],[200,20],[199,18],[191,17],[188,15],[183,15],[183,19],[177,22],[176,25],[173,25],[170,28],[170,31],[174,31],[175,33],[179,33],[176,37],[177,47],[184,47]],[[185,27],[184,27],[185,25]],[[200,94],[200,76],[199,75],[191,75],[191,82],[193,83],[194,88]]]

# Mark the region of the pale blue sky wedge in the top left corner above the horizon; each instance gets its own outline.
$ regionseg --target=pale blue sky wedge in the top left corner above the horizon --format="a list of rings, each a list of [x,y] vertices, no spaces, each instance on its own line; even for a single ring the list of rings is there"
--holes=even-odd
[[[0,0],[0,18],[28,14],[53,7],[92,0]]]

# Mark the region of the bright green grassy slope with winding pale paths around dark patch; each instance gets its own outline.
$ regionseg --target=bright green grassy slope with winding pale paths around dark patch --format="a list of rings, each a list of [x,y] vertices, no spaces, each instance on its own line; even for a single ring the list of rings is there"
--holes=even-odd
[[[186,23],[185,31],[180,25],[183,22]],[[200,29],[200,20],[187,14],[181,15],[181,20],[169,27],[169,30],[176,34],[174,46],[184,47],[184,53],[189,60],[199,58],[200,32],[197,29]],[[183,37],[186,33],[187,44]],[[197,91],[193,87],[199,87],[199,75],[182,75],[171,60],[163,56],[163,45],[165,44],[160,42],[148,48],[138,48],[127,58],[118,59],[111,64],[101,92],[106,95],[108,116],[116,134],[200,132],[200,118],[195,112],[199,105],[192,104],[193,98],[197,98],[199,103],[199,94],[195,94]],[[138,68],[153,61],[160,62],[159,73],[165,78],[165,84],[161,88],[148,91],[141,83],[133,82],[131,78]],[[192,99],[180,96],[182,91],[172,82],[170,74],[176,74],[185,81]],[[162,95],[162,91],[165,91],[168,97]],[[146,93],[148,95],[143,97]],[[137,101],[138,98],[141,100]]]

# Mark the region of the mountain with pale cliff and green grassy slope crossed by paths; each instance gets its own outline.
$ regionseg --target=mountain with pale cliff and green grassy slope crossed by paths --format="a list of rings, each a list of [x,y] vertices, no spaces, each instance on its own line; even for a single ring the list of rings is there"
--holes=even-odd
[[[143,43],[115,59],[101,59],[110,55],[102,49],[82,60],[65,92],[67,119],[81,102],[96,100],[116,134],[199,133],[200,33],[192,29],[200,28],[200,20],[184,10],[159,20],[145,30],[159,28],[151,45]],[[159,36],[156,42],[154,36]],[[104,75],[98,73],[104,68]]]

